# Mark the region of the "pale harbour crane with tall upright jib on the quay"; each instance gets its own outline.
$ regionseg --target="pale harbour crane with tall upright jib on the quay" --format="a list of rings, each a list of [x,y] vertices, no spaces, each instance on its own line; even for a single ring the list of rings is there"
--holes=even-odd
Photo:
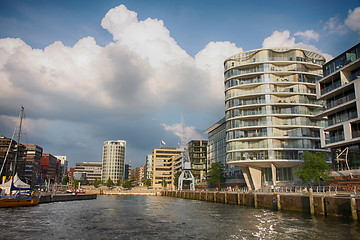
[[[178,190],[179,191],[183,190],[184,181],[190,181],[190,190],[195,191],[195,179],[194,179],[194,175],[191,172],[191,162],[189,157],[188,146],[186,143],[185,124],[182,113],[181,113],[181,127],[183,130],[181,137],[181,145],[184,151],[182,152],[182,164],[181,164],[182,171],[179,176]]]

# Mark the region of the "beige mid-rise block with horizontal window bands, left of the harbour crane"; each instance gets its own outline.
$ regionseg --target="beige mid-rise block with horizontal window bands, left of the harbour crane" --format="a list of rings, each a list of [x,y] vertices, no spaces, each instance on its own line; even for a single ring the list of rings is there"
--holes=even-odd
[[[166,186],[173,185],[174,174],[174,156],[181,155],[182,149],[162,147],[153,149],[152,152],[152,181],[151,186],[154,189],[162,188],[165,181]]]

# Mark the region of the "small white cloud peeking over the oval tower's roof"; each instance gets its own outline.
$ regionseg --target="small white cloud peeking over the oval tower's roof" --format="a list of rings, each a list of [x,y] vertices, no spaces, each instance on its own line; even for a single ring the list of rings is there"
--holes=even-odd
[[[317,47],[311,44],[298,42],[294,37],[290,37],[290,32],[285,30],[283,32],[274,31],[270,37],[265,38],[263,42],[263,48],[271,48],[271,47],[297,47],[315,51],[317,53],[322,54],[327,61],[333,58],[332,55],[327,53],[322,53]]]

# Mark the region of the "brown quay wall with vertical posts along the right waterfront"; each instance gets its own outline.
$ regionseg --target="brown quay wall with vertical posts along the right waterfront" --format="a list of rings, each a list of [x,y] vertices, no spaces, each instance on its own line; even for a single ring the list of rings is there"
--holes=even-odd
[[[359,220],[360,196],[309,193],[163,191],[163,196]]]

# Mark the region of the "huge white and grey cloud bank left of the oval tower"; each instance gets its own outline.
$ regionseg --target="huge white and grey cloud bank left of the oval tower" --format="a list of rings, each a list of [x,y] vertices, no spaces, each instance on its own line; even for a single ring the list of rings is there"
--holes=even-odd
[[[146,133],[151,137],[142,144],[151,145],[149,138],[165,131],[151,121],[158,111],[178,107],[202,116],[223,114],[223,61],[241,48],[211,42],[192,58],[163,21],[139,21],[123,5],[110,10],[102,26],[114,38],[104,47],[93,37],[74,46],[57,41],[44,49],[32,49],[21,39],[0,39],[0,129],[12,125],[7,116],[23,104],[31,135],[37,135],[34,143],[46,143],[45,152],[66,145],[94,155],[94,142],[112,138],[139,144]],[[176,126],[167,129],[176,132]],[[187,127],[186,134],[202,138],[195,127]]]

